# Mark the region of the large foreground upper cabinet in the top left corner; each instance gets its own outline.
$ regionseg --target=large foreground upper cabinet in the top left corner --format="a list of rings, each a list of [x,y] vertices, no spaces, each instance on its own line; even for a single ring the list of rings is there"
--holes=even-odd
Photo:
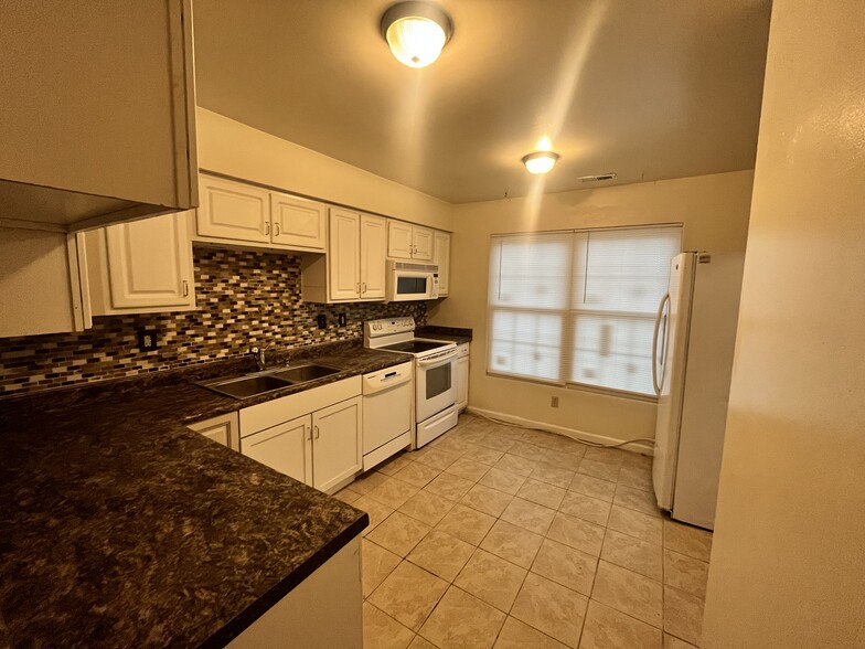
[[[190,0],[0,2],[0,225],[197,204]]]

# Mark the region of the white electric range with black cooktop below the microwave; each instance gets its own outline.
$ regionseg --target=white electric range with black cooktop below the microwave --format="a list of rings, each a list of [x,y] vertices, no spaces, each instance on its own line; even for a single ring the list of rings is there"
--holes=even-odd
[[[412,448],[429,444],[457,425],[456,342],[415,338],[415,319],[409,316],[367,320],[363,328],[363,344],[370,349],[415,357]]]

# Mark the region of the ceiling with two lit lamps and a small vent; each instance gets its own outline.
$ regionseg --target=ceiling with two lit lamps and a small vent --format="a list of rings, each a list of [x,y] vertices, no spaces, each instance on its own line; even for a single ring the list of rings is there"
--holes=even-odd
[[[380,35],[389,0],[195,0],[201,106],[451,203],[754,167],[768,0],[442,0],[424,70]]]

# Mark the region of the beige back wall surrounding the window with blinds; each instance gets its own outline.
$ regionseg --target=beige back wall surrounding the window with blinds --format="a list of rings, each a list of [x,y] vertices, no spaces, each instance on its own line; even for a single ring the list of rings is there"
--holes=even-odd
[[[681,222],[685,249],[744,251],[751,181],[750,171],[737,171],[455,206],[451,297],[430,321],[474,330],[470,405],[617,440],[654,437],[653,403],[487,375],[490,234]]]

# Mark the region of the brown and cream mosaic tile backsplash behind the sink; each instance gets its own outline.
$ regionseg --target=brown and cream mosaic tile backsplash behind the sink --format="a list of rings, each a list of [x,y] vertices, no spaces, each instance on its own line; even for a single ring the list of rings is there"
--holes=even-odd
[[[0,394],[35,392],[236,358],[250,345],[274,350],[361,339],[373,318],[414,316],[426,302],[316,305],[301,300],[300,257],[193,248],[197,310],[104,316],[79,333],[0,339]],[[327,329],[318,329],[323,313]],[[345,313],[346,324],[338,324]],[[138,331],[156,331],[159,347],[138,351]]]

